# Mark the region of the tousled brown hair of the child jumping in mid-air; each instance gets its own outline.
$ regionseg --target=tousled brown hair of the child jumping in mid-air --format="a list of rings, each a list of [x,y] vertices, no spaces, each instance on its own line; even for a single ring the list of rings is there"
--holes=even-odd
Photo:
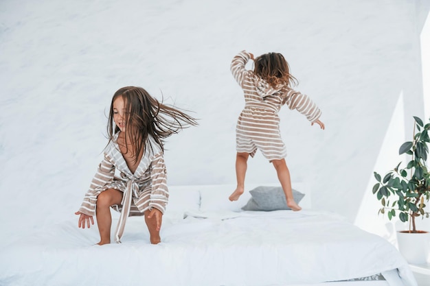
[[[297,85],[290,73],[290,66],[281,53],[264,53],[254,60],[254,73],[266,80],[273,88],[279,85]]]

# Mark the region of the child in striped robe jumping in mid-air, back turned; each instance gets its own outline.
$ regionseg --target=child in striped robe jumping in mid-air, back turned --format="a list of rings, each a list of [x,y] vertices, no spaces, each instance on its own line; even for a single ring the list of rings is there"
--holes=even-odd
[[[254,61],[254,70],[245,69],[249,60]],[[257,150],[273,163],[286,197],[286,204],[293,211],[302,208],[297,205],[291,191],[291,178],[286,167],[286,148],[282,142],[278,112],[286,104],[296,109],[311,122],[324,130],[319,121],[321,111],[306,95],[294,91],[291,84],[296,79],[291,75],[284,56],[280,53],[265,53],[254,60],[253,54],[241,51],[231,61],[231,73],[242,87],[245,95],[245,108],[239,115],[236,126],[236,190],[229,200],[238,200],[245,190],[245,173],[249,155]]]

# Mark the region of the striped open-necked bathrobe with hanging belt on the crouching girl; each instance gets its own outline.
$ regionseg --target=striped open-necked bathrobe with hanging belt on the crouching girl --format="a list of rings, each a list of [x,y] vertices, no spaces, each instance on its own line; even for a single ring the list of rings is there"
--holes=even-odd
[[[126,160],[120,152],[116,140],[106,146],[104,158],[95,174],[89,191],[84,196],[84,201],[79,208],[81,213],[95,215],[97,197],[106,189],[122,191],[123,198],[120,205],[113,206],[115,211],[121,213],[120,220],[115,231],[115,241],[120,243],[126,217],[144,215],[144,211],[157,208],[161,213],[166,211],[168,203],[168,187],[166,184],[166,165],[163,159],[163,150],[154,139],[148,137],[152,148],[146,144],[145,154],[133,174],[126,164]],[[115,176],[115,169],[120,173],[120,178]]]

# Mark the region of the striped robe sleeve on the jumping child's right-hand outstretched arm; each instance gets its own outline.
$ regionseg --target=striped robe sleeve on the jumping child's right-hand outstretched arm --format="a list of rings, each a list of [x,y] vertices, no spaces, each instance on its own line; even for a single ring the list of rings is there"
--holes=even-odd
[[[282,104],[286,104],[288,108],[302,113],[310,122],[315,122],[321,117],[321,110],[319,110],[317,104],[308,95],[294,91],[292,88],[286,88],[284,91]]]

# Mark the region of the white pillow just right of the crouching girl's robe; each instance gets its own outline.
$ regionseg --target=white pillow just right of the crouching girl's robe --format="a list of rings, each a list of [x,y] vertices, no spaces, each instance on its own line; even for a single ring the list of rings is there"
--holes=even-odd
[[[199,186],[169,186],[169,202],[164,215],[183,216],[185,211],[199,211]]]

